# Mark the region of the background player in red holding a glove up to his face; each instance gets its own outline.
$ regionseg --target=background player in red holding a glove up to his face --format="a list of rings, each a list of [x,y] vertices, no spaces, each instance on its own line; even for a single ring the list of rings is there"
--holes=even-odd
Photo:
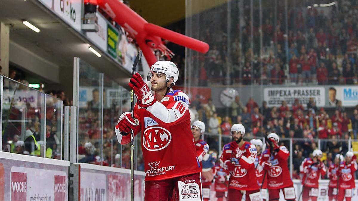
[[[267,188],[269,189],[269,200],[279,200],[280,190],[284,193],[286,200],[296,199],[295,189],[287,166],[290,156],[285,146],[279,146],[280,138],[276,133],[267,135],[267,149],[262,153],[265,161],[264,169],[267,171]]]

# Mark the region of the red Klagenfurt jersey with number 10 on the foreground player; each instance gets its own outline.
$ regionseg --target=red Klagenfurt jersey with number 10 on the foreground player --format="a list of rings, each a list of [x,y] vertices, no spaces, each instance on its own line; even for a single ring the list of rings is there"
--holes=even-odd
[[[189,97],[180,90],[166,94],[147,108],[134,107],[139,120],[145,162],[145,181],[164,180],[202,171],[190,129]],[[117,136],[121,144],[130,142],[130,134]]]

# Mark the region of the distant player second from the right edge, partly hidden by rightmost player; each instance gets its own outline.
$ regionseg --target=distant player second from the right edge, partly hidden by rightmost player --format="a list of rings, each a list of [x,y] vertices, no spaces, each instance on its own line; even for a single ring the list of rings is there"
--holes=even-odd
[[[328,200],[332,201],[337,197],[337,172],[339,168],[339,163],[344,160],[343,155],[337,154],[334,158],[334,163],[332,163],[327,172],[327,177],[329,178],[329,185],[328,185]]]

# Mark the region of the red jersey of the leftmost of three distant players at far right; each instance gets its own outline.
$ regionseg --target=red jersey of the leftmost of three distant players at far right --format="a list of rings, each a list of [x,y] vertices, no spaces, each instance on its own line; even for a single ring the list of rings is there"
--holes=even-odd
[[[323,176],[326,174],[326,168],[323,162],[318,161],[316,165],[313,165],[313,163],[315,162],[311,158],[305,158],[305,160],[302,161],[300,171],[304,175],[301,182],[304,186],[318,188],[318,180],[320,175]],[[305,183],[306,177],[307,181]]]

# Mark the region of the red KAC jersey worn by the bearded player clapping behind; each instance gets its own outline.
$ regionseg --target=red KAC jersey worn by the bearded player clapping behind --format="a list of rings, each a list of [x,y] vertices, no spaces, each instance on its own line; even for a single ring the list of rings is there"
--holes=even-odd
[[[257,190],[260,187],[257,183],[254,161],[256,158],[256,147],[245,142],[240,150],[243,152],[240,159],[235,158],[230,147],[232,142],[225,144],[220,157],[222,167],[230,172],[229,188],[236,190]],[[235,162],[233,170],[228,169],[228,163]]]

